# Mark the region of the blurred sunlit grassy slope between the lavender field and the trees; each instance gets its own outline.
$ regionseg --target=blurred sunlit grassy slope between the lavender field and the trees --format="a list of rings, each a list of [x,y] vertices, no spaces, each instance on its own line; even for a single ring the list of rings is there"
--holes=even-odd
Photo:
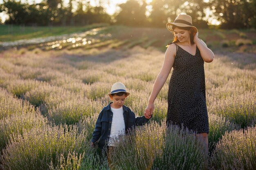
[[[10,27],[10,26],[9,26]],[[134,46],[141,46],[144,49],[148,49],[150,46],[154,46],[161,51],[166,50],[166,44],[171,42],[173,35],[165,28],[134,28],[127,26],[106,24],[94,24],[91,26],[81,27],[19,27],[13,26],[18,35],[10,35],[8,32],[8,26],[2,25],[3,34],[8,41],[22,40],[35,37],[41,37],[36,44],[26,45],[25,42],[20,42],[19,46],[24,46],[29,51],[36,52],[39,48],[44,51],[49,50],[81,50],[81,51],[97,51],[109,47],[112,49],[131,49]],[[37,29],[43,31],[36,31]],[[49,30],[52,29],[52,30]],[[11,29],[9,29],[11,30]],[[24,32],[24,30],[26,30]],[[65,31],[63,31],[65,30]],[[41,34],[43,32],[44,35]],[[76,34],[74,34],[76,32]],[[61,35],[65,37],[52,38],[47,40],[47,36]],[[66,35],[70,33],[69,35]],[[73,33],[73,34],[71,34]],[[206,42],[206,44],[213,50],[218,51],[243,51],[251,52],[255,51],[255,30],[222,30],[222,29],[199,29],[199,37]],[[8,36],[9,35],[9,36]],[[0,35],[1,38],[1,35]],[[4,37],[5,38],[5,37]],[[2,41],[7,41],[4,39]],[[239,40],[237,40],[239,39]],[[39,42],[44,40],[44,42]],[[222,41],[222,43],[219,43]],[[13,45],[16,46],[16,45]],[[249,47],[247,47],[249,46]],[[1,46],[0,46],[1,47]],[[239,48],[237,48],[239,47]],[[8,47],[3,47],[4,49]],[[24,54],[26,51],[20,51]]]

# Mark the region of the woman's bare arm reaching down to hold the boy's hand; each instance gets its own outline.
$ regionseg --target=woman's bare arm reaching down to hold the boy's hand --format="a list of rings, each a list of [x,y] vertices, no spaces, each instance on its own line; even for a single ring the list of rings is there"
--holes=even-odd
[[[176,55],[176,48],[177,47],[175,44],[171,44],[168,46],[168,48],[165,52],[164,63],[162,65],[162,69],[161,69],[160,73],[157,75],[157,79],[155,80],[151,95],[148,100],[148,106],[144,113],[144,115],[147,119],[149,119],[150,116],[153,114],[154,101],[155,101],[158,93],[164,86],[164,83],[166,82],[168,75],[171,72],[171,68],[173,67],[173,62],[174,62],[175,55]],[[148,115],[146,113],[150,113],[150,115]]]

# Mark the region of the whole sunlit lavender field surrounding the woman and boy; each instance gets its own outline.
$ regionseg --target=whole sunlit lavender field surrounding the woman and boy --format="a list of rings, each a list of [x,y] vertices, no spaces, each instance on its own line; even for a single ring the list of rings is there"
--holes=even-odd
[[[256,53],[233,53],[209,43],[215,59],[204,64],[208,155],[188,130],[166,128],[170,74],[155,101],[153,118],[121,141],[108,165],[106,157],[90,147],[97,116],[110,102],[107,93],[113,83],[124,83],[131,93],[126,106],[143,115],[164,51],[153,46],[158,40],[120,41],[107,33],[86,36],[92,37],[74,39],[70,48],[59,48],[54,41],[48,44],[53,50],[42,49],[45,43],[1,51],[1,169],[256,169]]]

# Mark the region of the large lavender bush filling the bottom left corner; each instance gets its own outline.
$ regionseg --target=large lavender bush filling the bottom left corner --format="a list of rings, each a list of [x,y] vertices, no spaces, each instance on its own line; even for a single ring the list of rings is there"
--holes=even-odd
[[[83,154],[90,149],[84,133],[76,126],[35,127],[10,139],[1,158],[4,170],[45,170],[57,167],[70,152]],[[22,152],[20,152],[22,151]]]

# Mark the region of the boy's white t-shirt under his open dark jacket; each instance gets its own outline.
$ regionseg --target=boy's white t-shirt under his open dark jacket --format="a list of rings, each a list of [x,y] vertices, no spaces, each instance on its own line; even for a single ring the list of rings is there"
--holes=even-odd
[[[108,146],[115,146],[115,141],[119,142],[118,137],[125,135],[125,124],[124,124],[124,110],[121,108],[112,108],[113,113],[110,135],[108,140]]]

